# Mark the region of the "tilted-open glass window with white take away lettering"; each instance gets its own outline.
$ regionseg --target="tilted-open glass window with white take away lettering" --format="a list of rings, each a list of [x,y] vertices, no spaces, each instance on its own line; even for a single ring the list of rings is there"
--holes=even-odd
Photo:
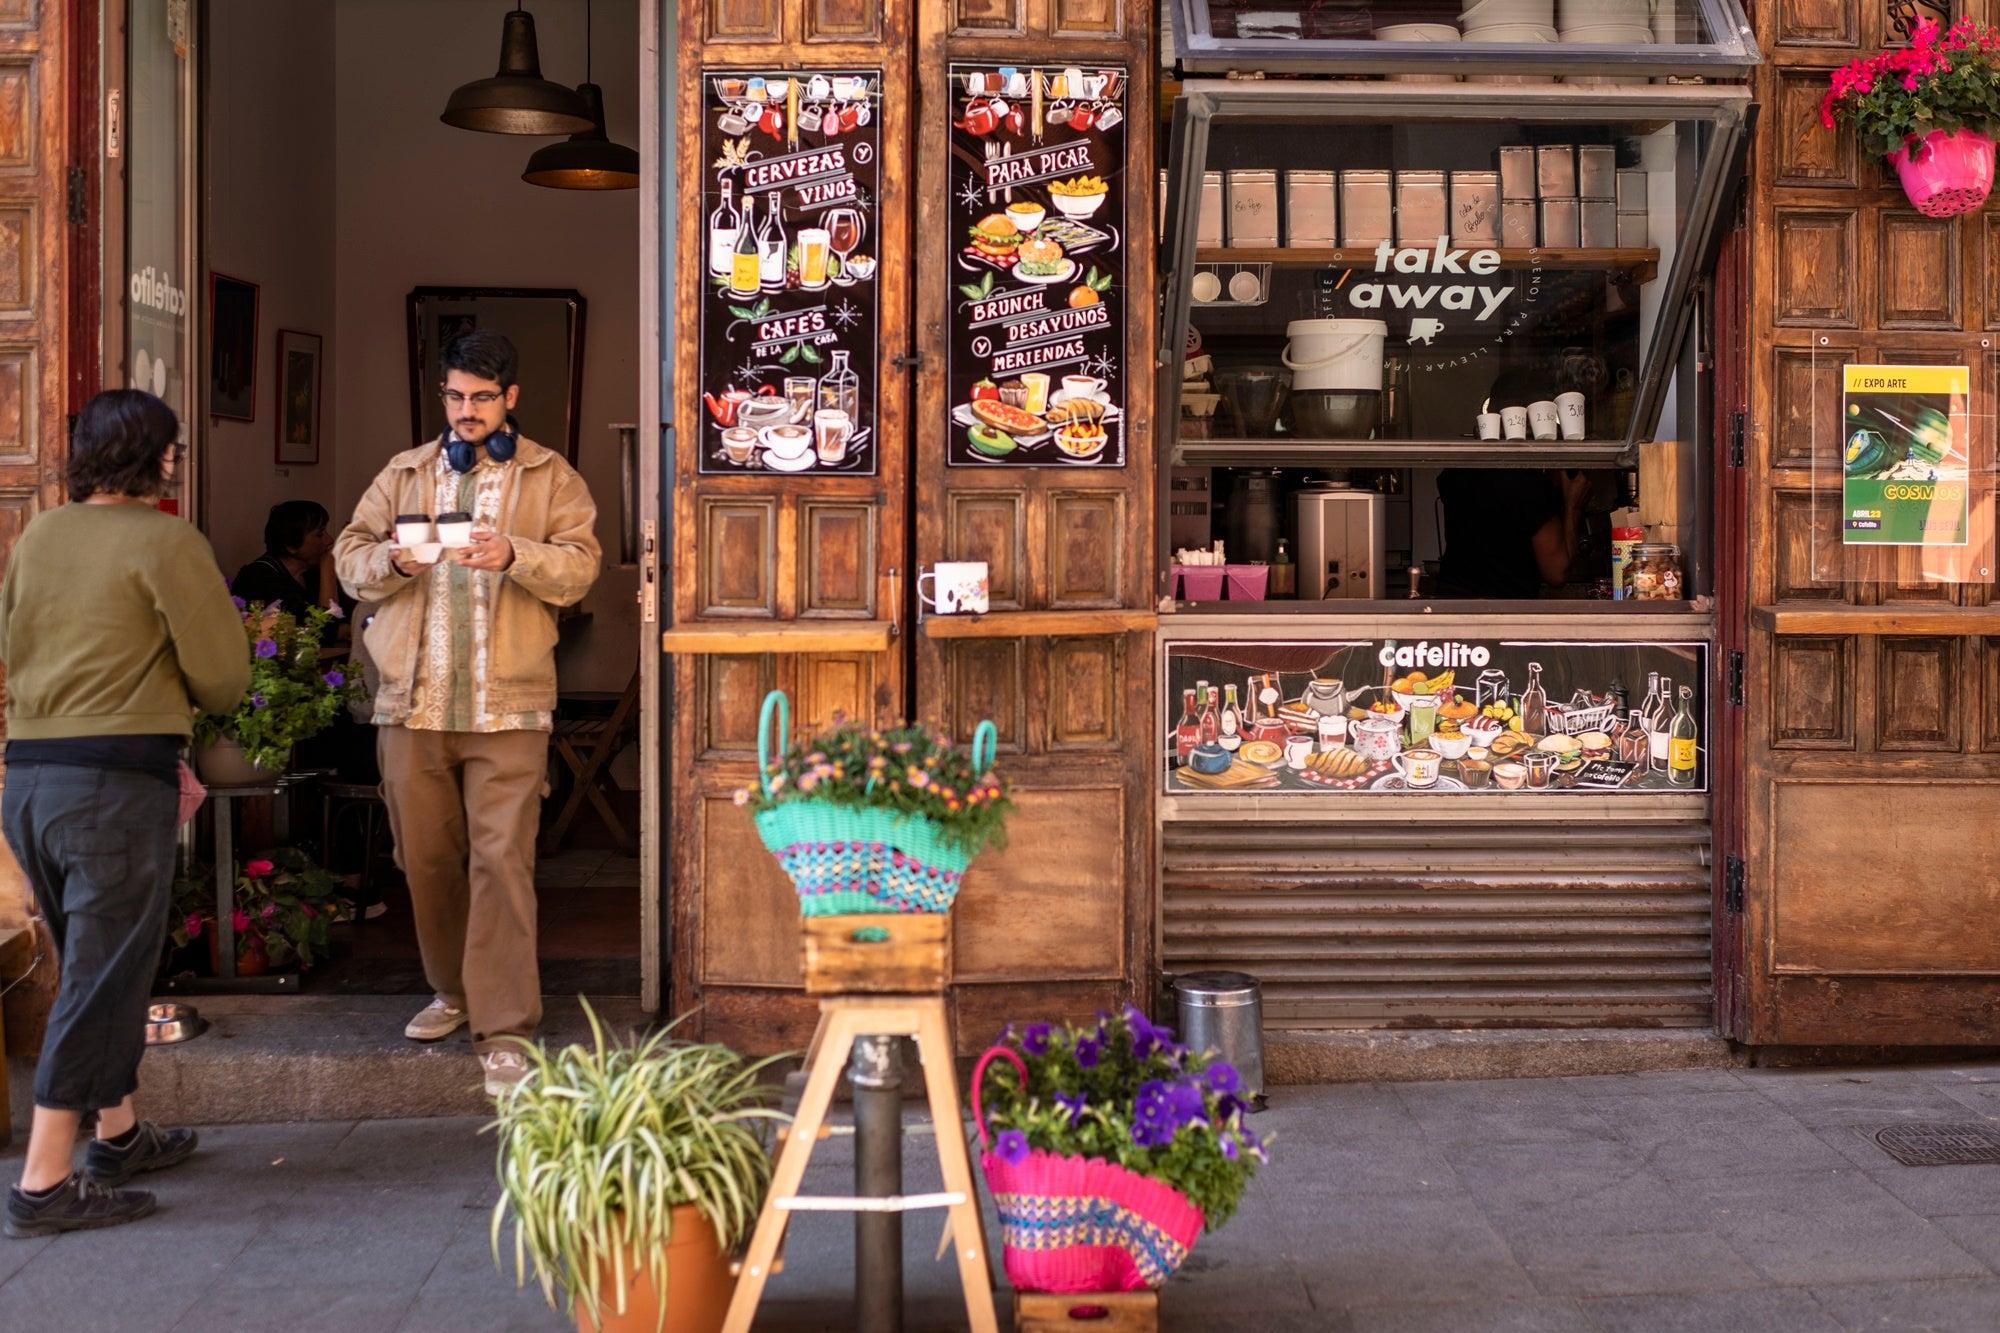
[[[1482,442],[1482,412],[1564,394],[1566,448],[1610,462],[1652,438],[1744,90],[1606,90],[1586,110],[1554,90],[1186,88],[1166,210],[1174,336],[1220,378],[1380,364],[1382,398],[1364,422],[1218,418],[1212,436],[1166,402],[1182,444],[1254,434],[1246,452],[1312,454],[1308,436],[1330,434],[1448,454]],[[1356,330],[1378,340],[1344,346]]]

